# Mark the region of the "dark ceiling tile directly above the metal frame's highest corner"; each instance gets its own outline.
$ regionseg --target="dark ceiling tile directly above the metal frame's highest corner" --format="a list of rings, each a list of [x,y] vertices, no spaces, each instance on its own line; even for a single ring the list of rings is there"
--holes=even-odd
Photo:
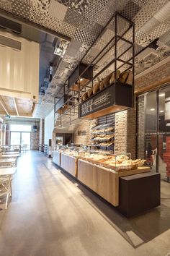
[[[138,4],[135,4],[133,1],[128,1],[125,8],[122,10],[121,14],[124,17],[127,17],[129,20],[133,20],[133,17],[140,11]]]

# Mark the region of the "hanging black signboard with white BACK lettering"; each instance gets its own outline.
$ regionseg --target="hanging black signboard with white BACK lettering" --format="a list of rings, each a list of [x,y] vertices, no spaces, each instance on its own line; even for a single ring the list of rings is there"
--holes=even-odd
[[[133,106],[133,88],[130,85],[116,83],[108,88],[91,96],[79,105],[79,118],[89,116],[90,114],[102,111],[112,106],[125,106],[130,108]],[[118,109],[118,108],[117,108]],[[109,114],[109,113],[108,113]]]

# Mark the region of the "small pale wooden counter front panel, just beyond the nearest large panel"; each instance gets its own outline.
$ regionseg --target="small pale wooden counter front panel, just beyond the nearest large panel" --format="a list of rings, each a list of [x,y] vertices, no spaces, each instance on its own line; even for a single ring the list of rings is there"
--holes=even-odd
[[[77,176],[77,159],[61,153],[61,168],[74,177]]]

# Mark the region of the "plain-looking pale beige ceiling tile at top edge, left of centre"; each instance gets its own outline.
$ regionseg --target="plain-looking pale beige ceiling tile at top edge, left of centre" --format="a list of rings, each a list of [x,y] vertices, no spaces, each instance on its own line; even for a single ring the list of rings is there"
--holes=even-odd
[[[67,9],[68,7],[65,7],[63,4],[58,3],[58,1],[51,0],[48,12],[51,16],[56,17],[58,20],[64,20]]]

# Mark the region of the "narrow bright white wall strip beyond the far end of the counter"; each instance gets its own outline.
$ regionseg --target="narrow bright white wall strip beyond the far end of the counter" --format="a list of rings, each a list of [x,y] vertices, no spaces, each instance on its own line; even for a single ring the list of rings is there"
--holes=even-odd
[[[54,129],[54,111],[51,111],[48,116],[45,117],[44,125],[44,144],[48,145],[48,140],[53,140],[53,129]]]

